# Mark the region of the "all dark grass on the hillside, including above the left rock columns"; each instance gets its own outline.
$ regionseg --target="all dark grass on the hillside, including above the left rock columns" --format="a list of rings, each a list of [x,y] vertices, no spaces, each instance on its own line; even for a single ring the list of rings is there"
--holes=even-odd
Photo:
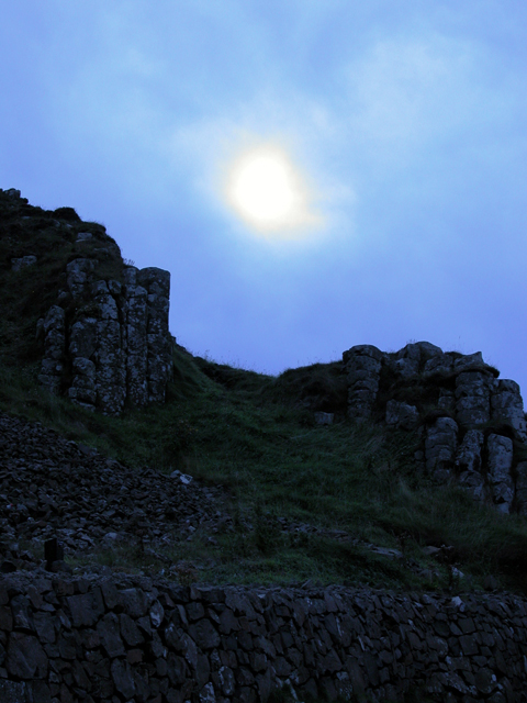
[[[347,383],[337,361],[272,377],[193,357],[175,344],[167,403],[127,409],[120,419],[41,389],[36,321],[56,301],[67,263],[93,257],[100,277],[120,280],[123,260],[102,225],[77,222],[71,213],[57,221],[59,212],[31,209],[33,219],[21,227],[16,217],[27,208],[15,216],[0,203],[0,409],[131,467],[179,469],[232,494],[235,529],[215,535],[216,545],[199,529],[160,560],[125,549],[90,558],[112,568],[191,562],[198,580],[223,583],[311,579],[434,590],[452,587],[449,569],[425,557],[423,547],[445,544],[467,574],[460,588],[481,589],[492,574],[502,588],[527,591],[527,520],[431,486],[415,469],[416,435],[347,421]],[[77,243],[86,231],[93,238]],[[103,260],[101,245],[109,247]],[[11,258],[27,254],[38,257],[31,275],[11,271]],[[434,413],[438,388],[421,377],[408,383],[383,375],[382,403],[394,398]],[[315,411],[334,412],[335,424],[316,425]],[[283,521],[298,528],[284,532]],[[339,542],[329,534],[336,529],[360,542]],[[368,543],[399,549],[403,558],[374,554]],[[85,563],[81,556],[74,561]]]

